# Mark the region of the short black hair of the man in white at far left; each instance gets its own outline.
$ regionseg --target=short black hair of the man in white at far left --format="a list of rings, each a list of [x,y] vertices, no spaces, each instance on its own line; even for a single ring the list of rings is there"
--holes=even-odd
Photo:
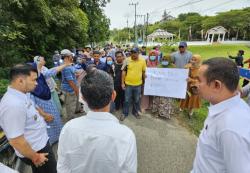
[[[30,76],[31,72],[37,73],[37,70],[30,64],[17,64],[10,69],[9,79],[15,80],[19,76]]]

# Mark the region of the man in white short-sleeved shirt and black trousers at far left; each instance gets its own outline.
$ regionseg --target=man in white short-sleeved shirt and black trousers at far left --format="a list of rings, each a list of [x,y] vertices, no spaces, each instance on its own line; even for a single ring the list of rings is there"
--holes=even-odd
[[[33,173],[56,173],[46,123],[27,94],[35,89],[36,79],[37,72],[30,65],[16,65],[10,70],[10,86],[0,103],[0,126]]]

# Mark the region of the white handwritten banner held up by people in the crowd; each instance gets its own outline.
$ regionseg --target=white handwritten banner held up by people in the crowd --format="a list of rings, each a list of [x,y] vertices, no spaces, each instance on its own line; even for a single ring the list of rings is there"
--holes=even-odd
[[[144,95],[186,97],[188,69],[147,68]]]

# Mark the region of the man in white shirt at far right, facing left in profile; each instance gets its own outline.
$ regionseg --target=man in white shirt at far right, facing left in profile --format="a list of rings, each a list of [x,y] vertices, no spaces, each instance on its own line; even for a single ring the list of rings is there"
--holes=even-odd
[[[198,80],[200,95],[211,106],[192,173],[249,173],[250,108],[238,93],[236,64],[226,58],[206,60]]]

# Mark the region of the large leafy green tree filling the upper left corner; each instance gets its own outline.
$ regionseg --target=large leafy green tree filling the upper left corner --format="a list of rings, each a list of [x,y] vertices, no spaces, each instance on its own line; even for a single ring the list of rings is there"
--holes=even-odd
[[[0,1],[0,66],[86,43],[88,19],[78,0]]]

